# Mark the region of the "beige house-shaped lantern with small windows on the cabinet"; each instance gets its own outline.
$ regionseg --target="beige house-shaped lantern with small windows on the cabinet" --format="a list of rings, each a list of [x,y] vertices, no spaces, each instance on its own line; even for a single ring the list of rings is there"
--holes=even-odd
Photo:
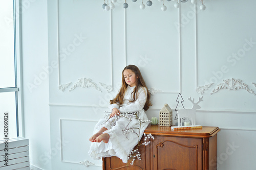
[[[170,109],[168,104],[164,104],[164,107],[160,110],[159,125],[160,126],[172,126],[173,125],[173,110]]]

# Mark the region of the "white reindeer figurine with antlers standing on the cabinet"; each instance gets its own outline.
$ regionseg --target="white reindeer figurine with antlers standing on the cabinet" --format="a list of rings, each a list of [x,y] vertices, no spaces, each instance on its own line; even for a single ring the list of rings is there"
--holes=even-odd
[[[183,118],[183,117],[190,117],[192,126],[196,125],[196,110],[201,108],[198,104],[203,101],[203,96],[202,98],[199,98],[199,101],[197,103],[195,103],[195,99],[193,99],[192,101],[191,97],[188,100],[191,103],[193,103],[193,107],[191,109],[180,109],[177,111],[178,126],[182,126],[182,124],[180,125],[180,118]]]

